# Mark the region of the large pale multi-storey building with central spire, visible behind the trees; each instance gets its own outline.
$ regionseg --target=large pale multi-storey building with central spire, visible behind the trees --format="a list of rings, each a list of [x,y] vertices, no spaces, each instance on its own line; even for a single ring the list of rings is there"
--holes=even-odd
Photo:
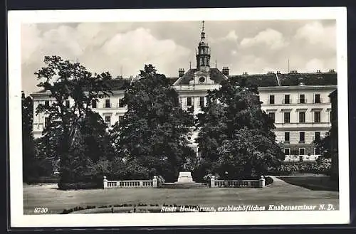
[[[221,80],[232,76],[247,78],[258,85],[260,100],[263,102],[262,109],[275,121],[276,129],[273,131],[277,141],[283,144],[286,161],[318,158],[320,152],[312,143],[315,138],[324,137],[331,126],[331,103],[328,95],[337,89],[337,73],[334,70],[326,73],[320,70],[315,73],[298,73],[292,70],[286,74],[271,71],[266,74],[248,75],[244,72],[242,75],[230,75],[228,67],[222,70],[211,68],[210,48],[206,42],[204,23],[196,58],[196,68],[189,68],[187,72],[179,68],[178,76],[169,78],[179,94],[179,102],[184,110],[193,109],[195,115],[199,113],[201,107],[206,105],[208,90],[219,88]],[[108,126],[120,121],[125,115],[127,109],[120,100],[131,80],[132,78],[111,80],[113,95],[93,103],[93,110],[100,113]],[[53,102],[48,92],[35,92],[31,96],[34,111],[39,103],[50,105]],[[68,107],[70,102],[66,102]],[[33,136],[41,137],[48,118],[45,113],[33,116]],[[189,140],[198,154],[199,149],[194,142],[196,137],[197,132],[193,132]]]

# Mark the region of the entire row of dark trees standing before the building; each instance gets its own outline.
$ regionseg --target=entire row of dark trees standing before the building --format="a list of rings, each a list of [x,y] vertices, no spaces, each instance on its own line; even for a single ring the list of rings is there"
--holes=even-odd
[[[60,184],[117,179],[148,179],[154,175],[175,181],[189,164],[197,180],[206,174],[246,178],[266,174],[268,166],[284,159],[273,121],[261,110],[257,87],[246,80],[229,79],[210,91],[204,113],[194,118],[182,110],[169,80],[152,65],[126,88],[127,112],[110,131],[93,100],[110,97],[109,73],[93,74],[79,63],[46,56],[46,66],[35,74],[38,87],[50,92],[54,102],[38,105],[47,113],[43,137],[33,142],[31,97],[23,95],[24,180],[36,171],[31,162],[59,161]],[[66,100],[73,105],[66,107]],[[199,130],[201,157],[189,147],[187,135]],[[38,171],[38,170],[37,170]]]

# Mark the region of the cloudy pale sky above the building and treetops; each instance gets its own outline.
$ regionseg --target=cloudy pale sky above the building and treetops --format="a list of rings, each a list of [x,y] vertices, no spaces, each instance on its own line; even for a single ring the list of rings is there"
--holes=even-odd
[[[211,67],[230,75],[336,69],[335,20],[205,21]],[[78,61],[113,78],[137,75],[145,64],[177,77],[196,67],[201,21],[31,23],[21,25],[21,81],[26,95],[41,90],[34,73],[45,55]]]

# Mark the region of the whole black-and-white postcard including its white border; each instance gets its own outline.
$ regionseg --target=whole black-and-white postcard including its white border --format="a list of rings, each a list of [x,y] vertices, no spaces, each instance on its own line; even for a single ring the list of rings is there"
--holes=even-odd
[[[11,225],[348,223],[346,27],[340,7],[10,11]]]

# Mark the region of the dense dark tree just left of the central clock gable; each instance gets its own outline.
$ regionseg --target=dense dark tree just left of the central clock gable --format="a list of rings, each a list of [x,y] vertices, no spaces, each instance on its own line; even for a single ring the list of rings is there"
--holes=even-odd
[[[117,155],[135,168],[147,169],[147,176],[176,180],[184,164],[196,159],[186,138],[194,118],[180,107],[169,80],[145,65],[122,101],[127,112],[112,129]]]

